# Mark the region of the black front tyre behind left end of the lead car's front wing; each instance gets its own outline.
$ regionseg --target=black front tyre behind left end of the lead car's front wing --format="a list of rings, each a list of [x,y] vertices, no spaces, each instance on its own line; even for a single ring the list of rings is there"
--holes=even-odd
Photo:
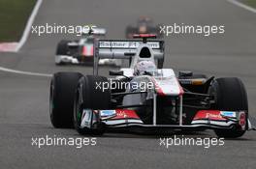
[[[82,113],[87,110],[104,110],[111,108],[111,90],[103,91],[97,84],[109,84],[109,80],[103,76],[86,75],[80,78],[74,101],[74,126],[82,135],[102,135],[105,131],[104,125],[100,122],[99,114],[94,114],[96,123],[92,128],[80,127]],[[98,115],[98,116],[97,116]]]

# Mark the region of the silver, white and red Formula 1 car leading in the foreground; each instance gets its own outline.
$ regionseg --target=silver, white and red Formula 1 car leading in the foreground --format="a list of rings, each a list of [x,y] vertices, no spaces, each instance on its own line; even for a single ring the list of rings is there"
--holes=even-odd
[[[245,88],[237,77],[214,78],[163,69],[164,42],[99,40],[93,75],[57,72],[50,84],[53,127],[100,135],[106,128],[213,129],[240,137],[252,129]],[[130,67],[98,75],[101,58],[128,59]]]

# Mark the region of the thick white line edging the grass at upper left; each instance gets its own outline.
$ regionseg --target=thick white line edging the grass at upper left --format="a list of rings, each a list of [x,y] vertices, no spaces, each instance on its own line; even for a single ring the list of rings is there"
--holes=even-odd
[[[31,26],[32,26],[32,24],[35,20],[36,15],[38,14],[38,11],[41,7],[42,2],[43,2],[43,0],[38,0],[37,1],[37,4],[35,5],[32,13],[30,14],[29,19],[26,23],[26,27],[25,27],[25,30],[23,32],[22,38],[19,40],[19,42],[16,45],[15,52],[17,52],[22,47],[22,45],[27,41],[28,36],[30,34]]]

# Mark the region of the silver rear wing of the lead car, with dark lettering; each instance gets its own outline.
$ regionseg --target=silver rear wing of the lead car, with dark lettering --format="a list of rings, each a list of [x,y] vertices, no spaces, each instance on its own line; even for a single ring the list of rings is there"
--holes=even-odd
[[[94,50],[94,69],[98,69],[99,59],[130,59],[137,53],[143,40],[96,40]],[[164,41],[146,41],[152,48],[154,59],[158,61],[158,67],[164,63]],[[97,70],[98,71],[98,70]]]

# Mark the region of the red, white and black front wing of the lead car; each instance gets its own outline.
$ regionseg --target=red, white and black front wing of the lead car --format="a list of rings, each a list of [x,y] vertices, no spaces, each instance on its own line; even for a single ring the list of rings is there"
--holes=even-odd
[[[80,127],[96,127],[101,122],[105,127],[163,127],[170,129],[202,129],[202,128],[232,128],[253,129],[244,111],[200,110],[196,113],[191,124],[174,125],[145,125],[136,111],[130,109],[115,110],[83,110]],[[97,119],[98,118],[98,119]],[[247,120],[247,123],[245,123]]]

